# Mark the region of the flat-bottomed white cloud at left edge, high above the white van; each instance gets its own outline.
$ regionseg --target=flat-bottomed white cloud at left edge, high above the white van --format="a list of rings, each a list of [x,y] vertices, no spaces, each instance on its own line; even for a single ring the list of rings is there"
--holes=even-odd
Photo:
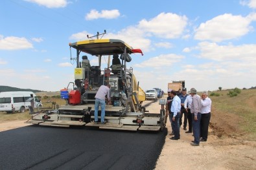
[[[33,48],[25,37],[3,37],[0,35],[0,50],[22,50]]]

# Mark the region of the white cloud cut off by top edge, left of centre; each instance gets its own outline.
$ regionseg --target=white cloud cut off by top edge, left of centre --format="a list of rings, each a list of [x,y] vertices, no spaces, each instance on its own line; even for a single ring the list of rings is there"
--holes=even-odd
[[[24,0],[30,3],[36,3],[47,8],[64,8],[67,6],[67,0]]]

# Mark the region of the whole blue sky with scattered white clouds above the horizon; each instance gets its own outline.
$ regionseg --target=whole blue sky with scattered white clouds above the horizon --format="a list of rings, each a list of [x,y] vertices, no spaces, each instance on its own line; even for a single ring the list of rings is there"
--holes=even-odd
[[[63,89],[76,67],[68,44],[104,30],[104,38],[143,50],[129,67],[144,90],[167,91],[172,80],[198,90],[256,85],[256,0],[3,0],[0,6],[0,85]]]

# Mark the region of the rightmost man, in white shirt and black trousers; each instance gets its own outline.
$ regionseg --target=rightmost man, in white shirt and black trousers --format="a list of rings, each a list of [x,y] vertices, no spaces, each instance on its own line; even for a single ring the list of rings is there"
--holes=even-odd
[[[208,92],[202,92],[202,100],[201,100],[202,108],[201,108],[201,122],[200,122],[200,142],[206,142],[208,137],[208,127],[211,119],[211,99],[208,98]]]

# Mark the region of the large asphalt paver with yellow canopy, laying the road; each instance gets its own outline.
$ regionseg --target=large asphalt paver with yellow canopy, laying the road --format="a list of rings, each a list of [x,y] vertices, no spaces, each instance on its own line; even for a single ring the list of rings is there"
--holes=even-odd
[[[166,122],[165,100],[159,100],[161,109],[158,113],[146,111],[142,106],[145,92],[139,87],[133,68],[126,68],[126,63],[132,61],[132,55],[143,55],[140,49],[134,49],[120,39],[88,39],[69,43],[69,47],[76,50],[76,68],[75,82],[69,82],[65,89],[60,90],[66,105],[61,105],[57,110],[33,114],[26,123],[58,127],[76,125],[99,129],[163,131]],[[82,53],[97,58],[99,64],[82,67]],[[117,55],[121,59],[120,64],[112,63],[110,66],[110,58]],[[108,58],[105,68],[102,68],[102,57]],[[106,105],[106,123],[94,123],[95,94],[101,85],[107,84],[111,85],[112,105]],[[100,108],[98,118],[100,119]]]

